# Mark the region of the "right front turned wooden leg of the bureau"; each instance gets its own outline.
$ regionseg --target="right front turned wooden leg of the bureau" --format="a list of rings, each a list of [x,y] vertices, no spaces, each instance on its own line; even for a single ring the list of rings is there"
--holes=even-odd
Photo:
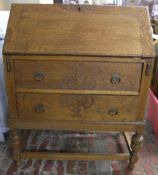
[[[142,133],[136,133],[132,136],[131,140],[131,157],[130,157],[130,163],[129,163],[129,169],[133,170],[135,163],[138,161],[138,152],[142,148],[143,145],[143,135]]]

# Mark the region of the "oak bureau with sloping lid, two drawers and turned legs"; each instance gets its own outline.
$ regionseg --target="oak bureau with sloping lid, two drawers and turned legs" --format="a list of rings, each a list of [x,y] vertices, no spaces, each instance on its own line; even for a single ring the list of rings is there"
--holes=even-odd
[[[154,58],[147,7],[13,4],[3,56],[14,160],[126,159],[134,168]],[[129,154],[23,149],[21,131],[51,129],[122,132]]]

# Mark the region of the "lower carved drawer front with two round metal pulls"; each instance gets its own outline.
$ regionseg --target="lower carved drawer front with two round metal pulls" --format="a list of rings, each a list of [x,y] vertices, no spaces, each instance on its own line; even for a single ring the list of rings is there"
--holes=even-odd
[[[20,118],[136,121],[136,96],[18,93]]]

